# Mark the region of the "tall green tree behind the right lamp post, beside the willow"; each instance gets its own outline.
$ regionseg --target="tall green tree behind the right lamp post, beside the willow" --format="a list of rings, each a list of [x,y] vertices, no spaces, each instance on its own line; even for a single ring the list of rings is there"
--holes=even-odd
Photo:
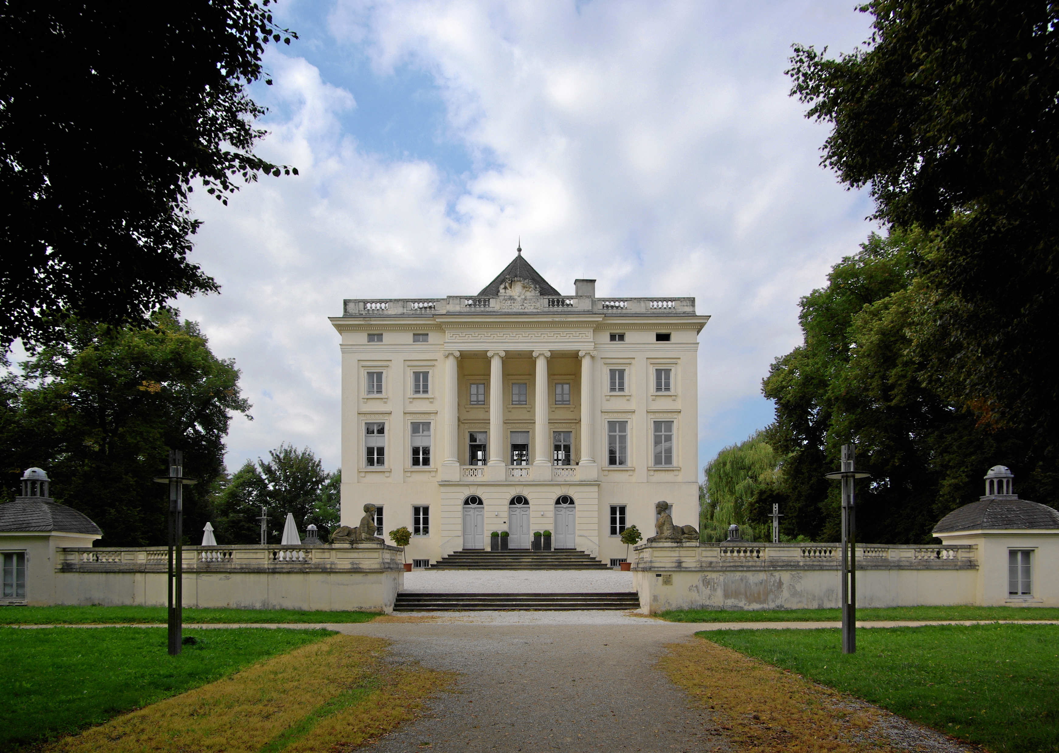
[[[856,441],[858,465],[874,478],[858,487],[858,536],[919,543],[934,523],[974,500],[993,465],[1010,466],[1020,494],[1055,499],[1054,463],[1018,432],[980,423],[925,383],[912,323],[929,316],[919,270],[938,233],[873,235],[802,300],[804,343],[778,358],[764,381],[776,419],[764,438],[784,455],[784,528],[837,540],[840,447]],[[765,520],[764,510],[752,517]]]

